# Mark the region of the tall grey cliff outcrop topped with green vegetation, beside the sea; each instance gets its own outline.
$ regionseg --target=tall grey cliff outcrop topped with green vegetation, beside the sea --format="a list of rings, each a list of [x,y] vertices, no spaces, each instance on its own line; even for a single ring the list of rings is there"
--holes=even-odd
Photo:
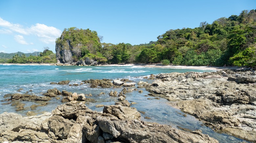
[[[96,31],[71,27],[64,29],[56,39],[55,51],[58,63],[73,63],[88,53],[95,54],[101,47]]]

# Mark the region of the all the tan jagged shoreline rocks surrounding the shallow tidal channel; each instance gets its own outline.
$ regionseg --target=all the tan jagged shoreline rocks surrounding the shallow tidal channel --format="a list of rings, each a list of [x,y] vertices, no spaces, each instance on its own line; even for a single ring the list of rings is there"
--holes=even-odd
[[[5,95],[6,102],[17,110],[23,110],[18,101],[38,102],[44,106],[52,98],[62,95],[62,102],[52,113],[42,115],[16,113],[0,114],[0,142],[218,142],[202,134],[200,130],[186,131],[172,126],[140,120],[141,111],[130,107],[125,98],[127,92],[146,88],[148,96],[161,97],[169,105],[195,116],[216,132],[227,133],[238,138],[256,142],[256,71],[223,70],[217,72],[162,73],[144,77],[153,83],[129,79],[84,80],[91,88],[120,88],[109,96],[118,97],[115,105],[104,106],[102,112],[92,111],[86,102],[94,102],[91,95],[76,94],[58,89],[49,89],[43,96],[29,94]],[[69,81],[51,83],[67,85]],[[69,85],[69,86],[79,86]],[[130,88],[132,87],[132,88]],[[22,89],[20,89],[22,90]],[[142,92],[139,90],[137,92]],[[102,93],[105,94],[105,93]],[[33,105],[32,105],[33,106]],[[36,108],[36,106],[31,106]],[[142,113],[143,114],[143,113]]]

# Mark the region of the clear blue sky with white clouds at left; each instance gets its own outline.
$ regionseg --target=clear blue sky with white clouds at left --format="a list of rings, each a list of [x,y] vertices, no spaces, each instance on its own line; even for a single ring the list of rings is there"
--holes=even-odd
[[[64,28],[89,28],[105,43],[156,41],[170,29],[239,15],[256,0],[0,0],[0,52],[55,53]]]

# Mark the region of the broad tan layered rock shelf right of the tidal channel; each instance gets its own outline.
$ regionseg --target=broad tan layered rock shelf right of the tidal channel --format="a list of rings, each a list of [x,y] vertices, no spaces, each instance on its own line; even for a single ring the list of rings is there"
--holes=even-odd
[[[157,75],[146,89],[218,132],[256,142],[255,83],[255,69],[173,72]]]

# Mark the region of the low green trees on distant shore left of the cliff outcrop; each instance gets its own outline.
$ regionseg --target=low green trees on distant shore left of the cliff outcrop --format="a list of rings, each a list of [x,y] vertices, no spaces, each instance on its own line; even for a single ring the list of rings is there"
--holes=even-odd
[[[18,54],[14,55],[11,59],[7,60],[8,63],[56,63],[56,54],[53,51],[49,50],[49,47],[45,47],[43,52],[39,53],[39,56],[26,56],[22,54],[19,56]]]

